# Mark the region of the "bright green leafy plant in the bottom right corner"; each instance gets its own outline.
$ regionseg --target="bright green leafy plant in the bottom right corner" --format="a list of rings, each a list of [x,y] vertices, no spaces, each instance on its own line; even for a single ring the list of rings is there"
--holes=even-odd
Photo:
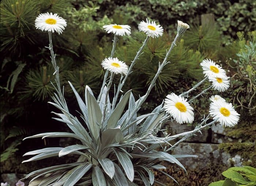
[[[256,185],[256,168],[244,167],[230,167],[228,170],[222,172],[226,177],[225,180],[213,182],[209,186],[255,186]]]

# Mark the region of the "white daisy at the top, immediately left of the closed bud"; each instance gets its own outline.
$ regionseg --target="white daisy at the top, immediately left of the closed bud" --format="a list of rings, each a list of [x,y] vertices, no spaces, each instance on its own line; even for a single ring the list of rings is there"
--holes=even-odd
[[[150,23],[148,19],[147,22],[140,22],[138,29],[152,38],[158,38],[163,35],[163,27],[160,24],[157,25],[154,21]]]

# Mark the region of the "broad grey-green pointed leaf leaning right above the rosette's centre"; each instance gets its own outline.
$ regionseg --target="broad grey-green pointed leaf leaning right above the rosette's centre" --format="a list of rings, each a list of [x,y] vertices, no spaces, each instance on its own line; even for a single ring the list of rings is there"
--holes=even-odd
[[[125,105],[130,97],[131,91],[132,90],[129,90],[128,92],[126,92],[125,95],[123,96],[123,98],[117,104],[113,113],[109,117],[107,128],[115,128],[116,127],[117,121],[119,120],[119,118],[121,117],[121,115],[124,111]]]

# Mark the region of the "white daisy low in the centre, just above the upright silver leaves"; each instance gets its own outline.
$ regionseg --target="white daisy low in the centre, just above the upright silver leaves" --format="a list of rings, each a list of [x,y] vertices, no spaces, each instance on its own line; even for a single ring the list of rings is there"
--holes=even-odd
[[[128,66],[123,61],[119,61],[117,57],[105,58],[101,62],[101,65],[104,69],[106,69],[110,72],[113,72],[115,74],[118,74],[118,73],[127,74],[127,72],[128,72]]]

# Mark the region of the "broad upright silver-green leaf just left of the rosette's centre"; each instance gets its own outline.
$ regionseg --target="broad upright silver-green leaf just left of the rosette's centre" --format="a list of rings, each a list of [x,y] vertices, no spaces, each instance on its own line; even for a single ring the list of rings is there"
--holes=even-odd
[[[89,127],[91,128],[91,133],[93,134],[94,138],[97,139],[99,135],[99,125],[101,125],[102,118],[101,109],[97,100],[93,95],[90,94],[88,90],[86,96]]]

